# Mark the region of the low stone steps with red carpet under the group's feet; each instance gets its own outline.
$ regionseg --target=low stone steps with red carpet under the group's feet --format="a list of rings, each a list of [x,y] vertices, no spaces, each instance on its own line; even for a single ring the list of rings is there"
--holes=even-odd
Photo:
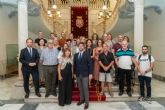
[[[137,91],[139,88],[139,86],[134,86],[133,88],[133,94],[132,94],[132,97],[128,97],[128,95],[126,93],[124,93],[122,96],[118,96],[118,93],[119,93],[119,89],[118,89],[118,85],[115,85],[113,86],[113,93],[114,93],[114,97],[111,97],[109,94],[108,94],[108,87],[106,86],[104,88],[105,90],[105,97],[102,97],[102,101],[105,100],[105,102],[120,102],[120,101],[137,101],[137,98],[139,97],[139,92]],[[96,89],[95,87],[91,88],[90,89],[90,101],[98,101],[99,97],[98,97],[98,94],[95,93],[96,92]],[[35,95],[35,90],[34,90],[34,87],[31,87],[30,88],[30,91],[31,91],[31,94],[29,96],[28,99],[24,99],[24,101],[26,103],[58,103],[58,97],[54,97],[54,96],[49,96],[48,98],[45,98],[45,88],[42,87],[40,88],[40,93],[42,95],[42,97],[37,97]],[[57,93],[58,93],[58,88],[57,88]],[[74,99],[74,101],[77,102],[77,100],[79,100],[79,91],[77,88],[74,88],[74,97],[72,96],[72,98]],[[73,102],[74,102],[73,101]]]

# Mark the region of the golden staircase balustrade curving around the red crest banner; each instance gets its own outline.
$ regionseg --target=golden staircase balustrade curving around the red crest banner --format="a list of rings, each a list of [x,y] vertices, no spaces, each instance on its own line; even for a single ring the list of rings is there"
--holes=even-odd
[[[36,1],[36,0],[35,0]],[[47,26],[47,28],[51,31],[53,31],[53,22],[52,20],[49,19],[49,17],[47,16],[47,5],[48,3],[45,2],[45,0],[38,0],[40,2],[39,5],[41,5],[41,16],[42,19],[45,23],[45,25]],[[106,0],[105,0],[106,1]],[[107,0],[109,1],[109,0]],[[70,6],[88,6],[89,10],[100,10],[102,9],[102,6],[104,4],[107,5],[107,8],[110,9],[112,11],[112,16],[111,18],[106,20],[106,32],[109,32],[114,25],[116,24],[117,20],[118,20],[118,12],[120,7],[125,3],[126,0],[110,0],[110,2],[104,2],[104,0],[56,0],[56,5],[57,7],[62,10],[62,9],[70,9]],[[93,21],[98,21],[96,19],[97,18],[97,14],[94,15],[93,17],[94,19],[91,20],[91,22]],[[55,27],[56,28],[56,32],[66,32],[69,30],[68,28],[68,22],[70,21],[64,21],[62,19],[58,19],[56,20],[55,23]],[[95,22],[93,23],[94,25],[90,26],[89,25],[89,31],[91,31],[91,33],[93,33],[94,31],[96,31],[97,33],[101,33],[103,32],[103,26],[104,26],[104,21],[99,21],[99,22]],[[59,33],[57,33],[59,34]]]

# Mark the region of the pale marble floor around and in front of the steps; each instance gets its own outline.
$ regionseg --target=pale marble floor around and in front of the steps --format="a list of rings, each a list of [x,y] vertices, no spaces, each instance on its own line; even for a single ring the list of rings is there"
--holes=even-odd
[[[28,104],[23,100],[13,100],[12,96],[21,96],[15,90],[15,83],[18,81],[18,77],[0,79],[0,110],[83,110],[82,106],[77,106],[73,102],[69,106],[60,107],[57,103],[40,103],[40,104]],[[89,110],[165,110],[165,82],[158,80],[152,80],[152,96],[154,101],[151,104],[147,102],[90,102]]]

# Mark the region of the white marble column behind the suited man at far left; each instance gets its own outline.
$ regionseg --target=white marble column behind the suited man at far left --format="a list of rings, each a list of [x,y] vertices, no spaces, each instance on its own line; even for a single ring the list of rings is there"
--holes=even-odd
[[[26,47],[28,38],[28,0],[18,0],[18,48]],[[22,80],[21,63],[19,63],[19,80]]]

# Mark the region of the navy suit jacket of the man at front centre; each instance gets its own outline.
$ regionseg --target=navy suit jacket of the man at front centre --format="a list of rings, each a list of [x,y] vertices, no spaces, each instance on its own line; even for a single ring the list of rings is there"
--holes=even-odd
[[[79,53],[74,55],[74,74],[78,77],[80,74],[82,77],[88,77],[92,74],[92,59],[90,54],[86,51],[83,52],[81,60],[78,58]]]

